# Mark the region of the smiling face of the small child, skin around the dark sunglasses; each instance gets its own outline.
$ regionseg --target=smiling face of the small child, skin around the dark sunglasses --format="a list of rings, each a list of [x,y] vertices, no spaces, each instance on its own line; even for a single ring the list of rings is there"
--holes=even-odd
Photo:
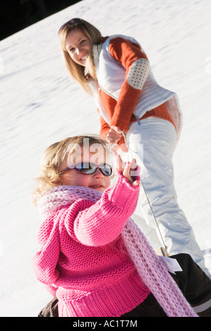
[[[76,165],[77,163],[82,162],[92,162],[101,165],[106,163],[106,154],[105,152],[102,153],[102,155],[97,154],[96,158],[95,153],[90,151],[88,151],[88,153],[83,153],[83,149],[81,149],[81,154],[80,156],[78,155],[78,161],[77,156],[74,158],[74,163],[66,156],[63,163],[61,163],[59,172],[71,167],[71,165]],[[78,173],[76,169],[70,169],[61,175],[61,181],[63,185],[90,187],[100,192],[104,192],[104,190],[111,184],[110,177],[103,175],[99,168],[97,168],[95,173],[90,175],[84,175],[83,173]]]

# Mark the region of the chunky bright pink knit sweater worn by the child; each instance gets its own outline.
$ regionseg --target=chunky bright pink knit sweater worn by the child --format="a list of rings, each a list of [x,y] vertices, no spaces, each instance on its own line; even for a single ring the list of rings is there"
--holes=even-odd
[[[54,289],[59,316],[121,316],[150,293],[121,237],[138,194],[119,173],[99,201],[79,199],[42,223],[32,265],[37,279]]]

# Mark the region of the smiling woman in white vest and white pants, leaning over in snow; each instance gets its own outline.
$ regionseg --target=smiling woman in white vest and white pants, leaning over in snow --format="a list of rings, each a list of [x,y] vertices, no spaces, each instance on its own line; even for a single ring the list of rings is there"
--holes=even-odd
[[[61,26],[59,41],[68,73],[95,98],[100,135],[118,144],[121,155],[126,151],[126,133],[169,254],[191,254],[206,270],[174,189],[171,160],[181,132],[176,94],[157,84],[145,51],[132,37],[102,37],[90,23],[73,18]],[[145,192],[140,189],[138,208],[147,225],[156,228]],[[135,213],[140,214],[138,208]]]

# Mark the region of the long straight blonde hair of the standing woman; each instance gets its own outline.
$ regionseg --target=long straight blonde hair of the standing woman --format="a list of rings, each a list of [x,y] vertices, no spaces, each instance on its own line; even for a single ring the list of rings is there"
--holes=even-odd
[[[90,89],[89,84],[90,78],[97,81],[92,52],[88,56],[86,67],[83,67],[83,65],[79,65],[72,60],[65,47],[66,36],[69,32],[76,28],[80,29],[85,34],[85,36],[90,39],[91,49],[94,44],[100,43],[102,35],[96,27],[81,18],[73,18],[62,25],[59,29],[59,42],[68,74],[73,79],[75,79],[81,85],[81,87],[83,87],[83,89],[85,89],[85,92],[88,92],[92,95],[92,90]]]

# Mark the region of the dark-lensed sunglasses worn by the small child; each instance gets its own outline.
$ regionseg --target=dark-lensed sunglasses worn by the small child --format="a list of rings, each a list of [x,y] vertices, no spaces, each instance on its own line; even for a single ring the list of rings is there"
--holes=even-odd
[[[112,174],[112,167],[111,165],[104,163],[104,164],[95,164],[90,162],[80,163],[78,165],[75,165],[74,167],[67,168],[59,173],[59,175],[62,175],[70,170],[76,170],[77,173],[81,173],[83,175],[92,175],[92,173],[95,173],[97,169],[99,169],[104,176],[111,176]]]

